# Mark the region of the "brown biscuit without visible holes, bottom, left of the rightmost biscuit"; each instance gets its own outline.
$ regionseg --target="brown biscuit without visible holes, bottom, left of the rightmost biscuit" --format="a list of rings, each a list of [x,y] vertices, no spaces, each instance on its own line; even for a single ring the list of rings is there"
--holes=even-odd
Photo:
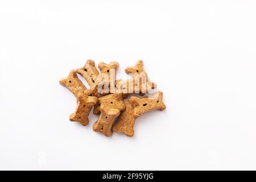
[[[134,114],[134,104],[129,100],[125,100],[126,109],[122,111],[118,122],[114,124],[113,131],[123,133],[128,137],[133,137],[134,135],[134,123],[135,123],[135,114]]]

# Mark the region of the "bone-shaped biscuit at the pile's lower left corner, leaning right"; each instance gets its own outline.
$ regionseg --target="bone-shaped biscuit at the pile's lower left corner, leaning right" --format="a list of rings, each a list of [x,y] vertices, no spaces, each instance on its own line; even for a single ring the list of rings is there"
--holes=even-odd
[[[89,123],[88,116],[92,107],[98,102],[98,98],[94,96],[84,96],[82,94],[77,98],[77,107],[73,114],[70,115],[70,121],[79,121],[86,126]]]

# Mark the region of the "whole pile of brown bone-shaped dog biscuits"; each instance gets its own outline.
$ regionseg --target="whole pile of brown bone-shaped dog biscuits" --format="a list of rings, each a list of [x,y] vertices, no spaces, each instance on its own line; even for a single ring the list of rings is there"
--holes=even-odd
[[[116,80],[118,67],[116,61],[110,64],[100,63],[98,72],[94,61],[88,60],[84,67],[72,70],[68,77],[60,80],[60,84],[66,86],[77,99],[77,107],[70,115],[70,121],[88,125],[88,116],[94,107],[93,114],[99,115],[99,118],[93,125],[93,131],[103,133],[107,137],[112,135],[113,131],[133,137],[134,123],[138,117],[148,111],[166,109],[162,92],[150,94],[156,84],[149,80],[142,60],[125,69],[125,72],[132,76],[128,80]],[[82,84],[77,73],[85,78],[89,89]],[[136,93],[141,96],[148,93],[149,96],[133,95],[127,99],[129,94]]]

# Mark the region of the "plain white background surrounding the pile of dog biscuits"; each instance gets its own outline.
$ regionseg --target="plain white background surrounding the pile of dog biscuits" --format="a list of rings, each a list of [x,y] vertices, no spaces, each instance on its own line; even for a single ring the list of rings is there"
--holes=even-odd
[[[256,2],[1,1],[0,169],[256,169]],[[144,60],[167,109],[135,135],[69,122],[59,80]]]

